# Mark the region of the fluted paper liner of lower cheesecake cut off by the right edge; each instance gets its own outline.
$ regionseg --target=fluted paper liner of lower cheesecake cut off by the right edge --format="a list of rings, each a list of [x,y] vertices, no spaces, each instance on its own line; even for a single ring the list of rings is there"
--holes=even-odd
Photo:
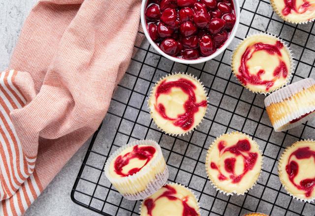
[[[310,199],[306,199],[306,198],[302,198],[302,197],[298,197],[296,195],[294,195],[293,193],[291,193],[288,188],[286,187],[284,180],[283,180],[283,175],[285,175],[285,170],[284,173],[282,172],[282,170],[280,169],[280,167],[283,165],[283,163],[285,164],[286,162],[284,161],[284,156],[285,154],[288,154],[288,151],[290,149],[292,149],[293,147],[295,147],[296,145],[303,143],[303,142],[314,142],[313,139],[306,139],[306,140],[301,140],[301,141],[297,141],[295,143],[293,143],[291,146],[287,147],[284,152],[282,153],[280,159],[279,159],[279,163],[278,163],[278,175],[279,175],[279,179],[281,181],[282,186],[284,187],[284,189],[286,190],[286,192],[292,196],[294,199],[300,200],[300,201],[304,201],[304,202],[315,202],[315,196],[310,198]]]

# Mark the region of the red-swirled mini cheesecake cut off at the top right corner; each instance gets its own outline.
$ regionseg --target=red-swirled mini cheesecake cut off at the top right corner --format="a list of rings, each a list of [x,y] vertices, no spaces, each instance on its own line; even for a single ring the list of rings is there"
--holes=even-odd
[[[315,18],[314,0],[270,0],[270,3],[284,21],[303,24]]]

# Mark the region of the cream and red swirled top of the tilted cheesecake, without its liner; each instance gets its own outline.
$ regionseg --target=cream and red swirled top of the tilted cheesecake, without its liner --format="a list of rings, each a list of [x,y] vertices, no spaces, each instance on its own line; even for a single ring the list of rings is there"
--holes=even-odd
[[[109,175],[112,178],[124,178],[139,172],[150,164],[157,155],[157,149],[151,145],[134,145],[124,149],[111,161]]]

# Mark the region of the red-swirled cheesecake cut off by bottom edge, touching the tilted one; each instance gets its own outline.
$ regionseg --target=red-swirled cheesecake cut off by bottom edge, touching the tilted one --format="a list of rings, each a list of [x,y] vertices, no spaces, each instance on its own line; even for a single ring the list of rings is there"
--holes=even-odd
[[[143,200],[140,216],[200,216],[199,204],[191,190],[172,183]]]

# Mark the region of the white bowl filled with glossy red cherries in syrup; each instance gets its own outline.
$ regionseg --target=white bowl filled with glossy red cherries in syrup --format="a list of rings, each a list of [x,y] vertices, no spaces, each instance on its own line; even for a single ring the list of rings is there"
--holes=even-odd
[[[233,40],[238,0],[143,0],[141,24],[164,57],[185,64],[208,61]]]

